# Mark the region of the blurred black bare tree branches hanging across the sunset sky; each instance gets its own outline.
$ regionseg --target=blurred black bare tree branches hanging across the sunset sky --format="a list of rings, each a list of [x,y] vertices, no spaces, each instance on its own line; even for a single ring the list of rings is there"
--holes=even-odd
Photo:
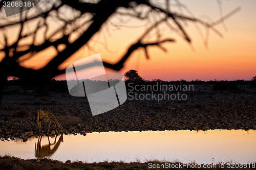
[[[120,70],[138,48],[143,48],[147,59],[150,58],[150,54],[148,54],[150,46],[157,46],[160,50],[167,51],[162,44],[164,42],[175,42],[175,39],[171,36],[166,38],[166,35],[164,36],[162,33],[162,27],[169,29],[170,32],[179,33],[185,41],[190,43],[191,39],[184,27],[184,21],[198,23],[204,26],[206,30],[211,30],[222,36],[215,26],[223,23],[224,20],[240,10],[240,8],[237,8],[224,16],[222,16],[221,11],[220,19],[214,22],[205,22],[193,15],[183,14],[182,8],[185,8],[185,6],[178,0],[175,2],[180,8],[179,13],[171,12],[173,4],[169,0],[165,0],[162,5],[148,0],[100,0],[95,4],[79,0],[46,0],[41,1],[31,9],[34,10],[34,13],[23,12],[15,19],[3,17],[0,20],[0,51],[4,52],[5,56],[0,62],[1,80],[5,80],[8,76],[19,77],[27,81],[34,77],[36,79],[33,80],[34,82],[50,80],[54,76],[65,72],[65,69],[58,70],[58,66],[81,47],[86,46],[90,51],[93,51],[93,47],[89,44],[90,40],[102,44],[106,51],[112,52],[108,49],[108,41],[105,37],[112,34],[110,28],[119,30],[124,27],[143,28],[144,31],[135,37],[134,43],[127,47],[126,52],[120,56],[118,62],[114,64],[103,62],[105,67]],[[3,7],[3,1],[0,2],[0,11],[3,12],[1,7]],[[117,21],[113,21],[112,18],[116,18]],[[142,25],[131,26],[128,23],[133,19],[145,22]],[[15,41],[10,41],[11,36],[6,34],[6,30],[10,27],[17,28]],[[103,28],[106,34],[103,35],[104,41],[92,39]],[[152,33],[154,37],[152,37]],[[13,34],[16,35],[16,33]],[[76,39],[72,38],[73,34],[78,35]],[[208,34],[209,32],[206,32],[206,37]],[[65,49],[58,51],[59,44],[64,44]],[[55,48],[57,55],[53,56],[46,66],[35,70],[20,65],[22,62],[36,57],[38,52],[47,51],[52,46]]]

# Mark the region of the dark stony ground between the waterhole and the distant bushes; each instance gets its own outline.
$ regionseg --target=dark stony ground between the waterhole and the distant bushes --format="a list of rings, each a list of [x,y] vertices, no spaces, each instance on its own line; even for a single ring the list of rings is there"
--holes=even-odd
[[[9,87],[13,88],[13,87]],[[65,134],[147,130],[256,130],[256,88],[214,91],[213,85],[195,85],[184,101],[127,100],[120,107],[92,116],[86,98],[69,93],[37,96],[32,92],[8,93],[0,107],[0,137],[27,139],[40,135],[34,116],[39,108],[52,111]],[[9,89],[10,91],[10,89]],[[47,125],[45,125],[47,130]],[[49,133],[56,133],[51,126]]]

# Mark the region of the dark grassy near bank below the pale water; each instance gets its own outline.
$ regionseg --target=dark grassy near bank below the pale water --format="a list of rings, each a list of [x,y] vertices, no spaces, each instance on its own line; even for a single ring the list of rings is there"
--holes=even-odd
[[[167,168],[161,168],[162,166],[167,164]],[[42,159],[40,162],[37,160],[23,160],[13,157],[0,157],[0,169],[168,169],[168,167],[172,168],[172,166],[175,169],[230,169],[228,168],[228,164],[225,164],[224,167],[221,164],[187,164],[184,165],[180,162],[161,162],[161,161],[149,161],[146,163],[139,163],[139,162],[132,162],[132,163],[123,163],[123,162],[100,162],[100,163],[83,163],[81,161],[79,162],[73,162],[73,163],[63,163],[59,161],[53,161],[49,159]],[[255,169],[255,164],[249,164],[247,165],[241,165],[242,167],[234,167],[232,169]],[[152,168],[153,166],[159,166],[160,168]],[[182,166],[182,167],[179,167]],[[199,168],[200,166],[200,168]],[[209,168],[203,168],[203,166],[208,166]],[[251,166],[254,166],[251,168]],[[194,167],[194,168],[193,168]],[[212,167],[212,168],[211,168]]]

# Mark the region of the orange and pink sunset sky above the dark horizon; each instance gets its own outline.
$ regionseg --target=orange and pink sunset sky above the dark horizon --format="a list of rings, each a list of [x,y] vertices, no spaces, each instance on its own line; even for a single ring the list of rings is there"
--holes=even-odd
[[[193,12],[196,17],[205,21],[215,21],[220,18],[217,1],[181,1]],[[174,32],[161,28],[161,34],[168,35],[176,39],[176,42],[166,42],[163,44],[167,52],[163,52],[156,46],[151,46],[148,50],[150,59],[146,59],[143,49],[138,49],[124,63],[124,67],[119,71],[124,72],[135,69],[145,80],[250,80],[256,75],[256,1],[221,1],[223,14],[240,7],[241,10],[225,20],[224,25],[220,24],[216,28],[223,34],[218,36],[210,31],[207,47],[204,39],[200,36],[195,24],[186,22],[184,25],[190,36],[192,43],[188,44],[183,38]],[[177,10],[177,9],[173,9]],[[184,14],[187,14],[184,11]],[[112,18],[115,23],[118,19]],[[141,26],[146,22],[131,20],[125,26]],[[225,29],[226,27],[226,29]],[[199,26],[205,36],[205,28]],[[90,51],[87,46],[82,47],[70,59],[59,66],[63,69],[81,58],[100,53],[103,61],[111,63],[117,62],[125,53],[126,48],[135,42],[143,33],[143,27],[130,28],[122,27],[116,29],[109,28],[111,35],[102,28],[100,33],[93,36],[90,45],[94,51]],[[152,35],[154,36],[154,35]],[[98,41],[104,42],[105,45]],[[32,68],[44,66],[54,55],[51,48],[43,53],[38,53],[36,57],[21,63],[21,65]],[[106,69],[106,72],[115,70]],[[65,79],[65,75],[57,76],[56,79]]]

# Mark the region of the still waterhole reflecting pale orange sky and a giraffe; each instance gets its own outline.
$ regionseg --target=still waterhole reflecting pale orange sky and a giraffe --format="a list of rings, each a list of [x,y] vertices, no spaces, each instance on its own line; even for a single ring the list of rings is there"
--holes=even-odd
[[[56,140],[55,140],[56,139]],[[50,145],[49,145],[50,141]],[[158,159],[183,163],[256,161],[255,130],[93,132],[28,141],[1,141],[0,155],[22,159],[51,158],[65,162]]]

